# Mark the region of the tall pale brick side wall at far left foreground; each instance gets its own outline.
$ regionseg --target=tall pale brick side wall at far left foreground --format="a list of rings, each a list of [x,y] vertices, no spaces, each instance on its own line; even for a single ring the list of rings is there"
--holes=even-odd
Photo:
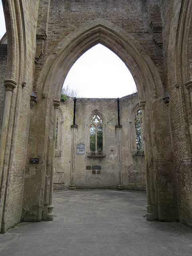
[[[10,4],[13,4],[13,2],[11,1],[8,4],[10,7]],[[0,214],[2,217],[2,231],[8,230],[20,222],[21,219],[24,171],[30,121],[30,94],[32,92],[34,55],[36,50],[38,1],[23,0],[22,6],[18,4],[17,8],[19,14],[17,13],[16,17],[18,20],[20,20],[22,16],[20,11],[23,10],[24,12],[24,27],[22,27],[22,24],[18,26],[18,24],[12,23],[12,30],[7,32],[9,35],[9,59],[7,72],[3,76],[4,78],[16,80],[17,86],[12,96],[6,152],[4,156],[5,166],[3,169],[1,190],[1,209],[3,209],[3,212],[2,215]],[[8,9],[8,6],[6,6],[6,15],[15,17],[14,9],[12,10],[13,13],[11,13],[10,10],[12,9]],[[10,35],[14,37],[14,40],[18,43],[18,48],[10,48],[10,43],[12,43],[9,41],[11,38]],[[19,53],[15,54],[14,51],[18,51]],[[15,73],[11,74],[10,67],[12,63],[16,63],[18,60],[19,64],[12,68],[12,72],[14,71]],[[10,77],[10,74],[12,77]],[[26,83],[25,87],[22,86],[22,82]]]

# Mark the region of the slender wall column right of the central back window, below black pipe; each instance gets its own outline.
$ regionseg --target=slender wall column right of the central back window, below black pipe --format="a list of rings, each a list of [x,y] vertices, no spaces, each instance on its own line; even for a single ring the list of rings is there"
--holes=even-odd
[[[121,155],[121,133],[122,125],[116,125],[117,132],[117,166],[118,166],[118,189],[123,189],[123,177],[122,177],[122,155]]]

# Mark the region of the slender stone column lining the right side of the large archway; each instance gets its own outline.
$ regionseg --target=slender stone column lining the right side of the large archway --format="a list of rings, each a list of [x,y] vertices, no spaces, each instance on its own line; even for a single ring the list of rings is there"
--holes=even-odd
[[[146,190],[147,190],[147,214],[146,220],[154,220],[154,207],[151,204],[150,196],[150,173],[148,168],[148,148],[146,140],[146,118],[145,118],[145,104],[146,100],[139,102],[142,111],[142,126],[143,126],[143,139],[144,139],[144,154],[145,154],[145,171],[146,171]]]

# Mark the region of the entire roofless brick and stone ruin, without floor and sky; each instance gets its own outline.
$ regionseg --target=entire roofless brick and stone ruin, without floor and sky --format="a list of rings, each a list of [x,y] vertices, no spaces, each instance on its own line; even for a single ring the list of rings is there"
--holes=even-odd
[[[82,188],[146,191],[146,220],[192,228],[192,1],[2,5],[0,231],[53,220],[53,190]],[[70,68],[99,43],[138,92],[60,101]]]

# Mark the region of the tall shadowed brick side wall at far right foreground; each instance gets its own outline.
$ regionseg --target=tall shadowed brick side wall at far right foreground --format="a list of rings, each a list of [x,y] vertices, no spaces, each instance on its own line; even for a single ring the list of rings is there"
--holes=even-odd
[[[191,106],[186,101],[189,97],[189,92],[184,88],[186,80],[179,79],[181,74],[176,71],[179,70],[179,65],[182,65],[186,70],[187,63],[182,63],[182,56],[175,55],[176,47],[182,48],[182,44],[176,45],[178,40],[178,21],[181,3],[188,1],[174,0],[161,1],[162,22],[163,22],[163,53],[164,66],[166,75],[166,88],[170,96],[170,123],[172,130],[172,146],[174,154],[174,167],[176,176],[176,188],[180,221],[192,227],[192,154],[191,154],[191,140],[187,113]],[[189,9],[187,9],[189,10]],[[187,14],[187,10],[184,13]],[[181,18],[181,17],[180,17]],[[185,19],[187,23],[188,20]],[[184,28],[184,24],[180,24]],[[180,28],[180,29],[181,29]],[[184,32],[185,34],[186,32]],[[184,37],[183,37],[184,40]],[[184,50],[181,53],[183,56],[190,58],[190,52]],[[177,59],[176,59],[177,58]],[[190,77],[188,77],[190,79]],[[190,112],[191,113],[191,112]],[[190,114],[189,113],[189,114]],[[190,114],[191,115],[191,114]]]

